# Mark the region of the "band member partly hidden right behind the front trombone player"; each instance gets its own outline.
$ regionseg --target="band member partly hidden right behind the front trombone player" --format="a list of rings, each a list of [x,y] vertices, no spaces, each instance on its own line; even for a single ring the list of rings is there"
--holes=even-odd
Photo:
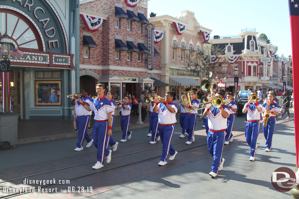
[[[224,144],[229,144],[229,142],[233,141],[234,135],[231,133],[234,120],[235,120],[235,113],[237,112],[237,103],[233,101],[233,94],[229,92],[226,95],[227,99],[231,99],[231,103],[228,104],[229,106],[229,117],[227,118],[227,129],[226,129],[226,135],[224,138]]]

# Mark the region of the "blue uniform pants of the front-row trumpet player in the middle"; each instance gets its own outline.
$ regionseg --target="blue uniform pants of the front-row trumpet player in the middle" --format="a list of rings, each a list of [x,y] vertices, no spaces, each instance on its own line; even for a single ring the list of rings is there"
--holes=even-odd
[[[171,126],[160,126],[158,127],[161,142],[163,144],[162,147],[162,155],[161,155],[161,161],[167,162],[167,155],[170,153],[170,155],[174,155],[176,150],[171,145],[171,137],[174,131],[174,124]]]

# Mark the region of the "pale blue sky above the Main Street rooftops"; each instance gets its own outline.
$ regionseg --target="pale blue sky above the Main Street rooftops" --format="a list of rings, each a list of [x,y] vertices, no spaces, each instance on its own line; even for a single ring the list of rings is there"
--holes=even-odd
[[[278,46],[277,54],[288,57],[292,53],[289,19],[289,0],[150,0],[149,13],[156,16],[179,16],[182,10],[195,13],[211,35],[237,35],[246,27],[256,28],[258,35],[265,33],[271,43]]]

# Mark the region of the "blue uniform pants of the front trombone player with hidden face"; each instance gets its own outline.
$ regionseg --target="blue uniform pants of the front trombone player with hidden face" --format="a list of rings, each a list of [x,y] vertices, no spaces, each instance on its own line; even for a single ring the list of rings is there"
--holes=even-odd
[[[222,162],[222,150],[224,144],[225,132],[211,132],[208,131],[207,141],[208,141],[208,150],[214,158],[212,165],[212,172],[217,173],[219,165]]]

